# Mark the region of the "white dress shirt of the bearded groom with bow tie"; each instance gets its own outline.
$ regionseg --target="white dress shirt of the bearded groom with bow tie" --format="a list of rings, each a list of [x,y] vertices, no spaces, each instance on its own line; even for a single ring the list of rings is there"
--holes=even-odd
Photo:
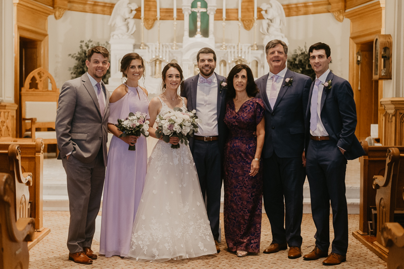
[[[198,132],[199,136],[217,136],[218,129],[218,81],[215,73],[209,78],[212,84],[200,83],[198,76],[198,84],[196,88],[196,116],[198,116]]]

